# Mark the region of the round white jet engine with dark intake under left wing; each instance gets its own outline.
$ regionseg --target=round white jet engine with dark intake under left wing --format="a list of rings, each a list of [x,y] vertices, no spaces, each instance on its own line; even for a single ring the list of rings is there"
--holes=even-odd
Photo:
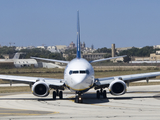
[[[33,84],[32,93],[38,97],[46,97],[49,95],[49,85],[44,81],[38,81]]]

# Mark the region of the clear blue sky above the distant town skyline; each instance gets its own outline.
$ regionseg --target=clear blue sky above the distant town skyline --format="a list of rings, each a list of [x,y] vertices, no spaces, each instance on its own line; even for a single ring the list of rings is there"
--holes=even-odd
[[[160,0],[0,0],[1,46],[160,45]],[[10,43],[10,44],[9,44]]]

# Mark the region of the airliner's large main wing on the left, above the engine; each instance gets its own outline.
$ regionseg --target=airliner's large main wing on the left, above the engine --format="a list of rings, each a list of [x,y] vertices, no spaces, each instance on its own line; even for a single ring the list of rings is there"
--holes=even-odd
[[[13,81],[26,84],[34,84],[36,81],[42,80],[49,84],[49,86],[62,87],[64,85],[63,79],[41,78],[41,77],[26,77],[26,76],[13,76],[13,75],[0,75],[0,79],[6,81]]]

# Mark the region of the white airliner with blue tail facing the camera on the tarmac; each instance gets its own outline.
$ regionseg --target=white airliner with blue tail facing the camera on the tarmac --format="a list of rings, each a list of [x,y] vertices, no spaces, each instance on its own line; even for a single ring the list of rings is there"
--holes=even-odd
[[[87,61],[81,58],[81,47],[80,47],[80,24],[79,24],[79,11],[77,11],[77,55],[76,58],[71,61],[62,61],[54,59],[45,59],[38,57],[31,57],[36,60],[44,60],[50,62],[66,63],[67,66],[64,71],[64,79],[56,78],[41,78],[41,77],[27,77],[27,76],[12,76],[12,75],[0,75],[0,79],[8,81],[16,81],[21,83],[27,83],[32,88],[32,93],[38,97],[46,97],[50,93],[50,89],[53,91],[53,99],[59,96],[63,99],[63,91],[68,88],[77,94],[75,97],[76,103],[82,103],[82,95],[88,90],[94,88],[97,90],[96,97],[99,99],[100,96],[107,98],[107,92],[105,88],[109,88],[109,92],[112,95],[123,95],[126,93],[127,85],[130,82],[139,81],[146,79],[147,82],[150,78],[155,78],[160,75],[160,72],[132,74],[113,76],[105,78],[95,78],[94,69],[91,63],[100,62],[105,60],[116,59],[117,56],[111,58],[98,59],[93,61]]]

